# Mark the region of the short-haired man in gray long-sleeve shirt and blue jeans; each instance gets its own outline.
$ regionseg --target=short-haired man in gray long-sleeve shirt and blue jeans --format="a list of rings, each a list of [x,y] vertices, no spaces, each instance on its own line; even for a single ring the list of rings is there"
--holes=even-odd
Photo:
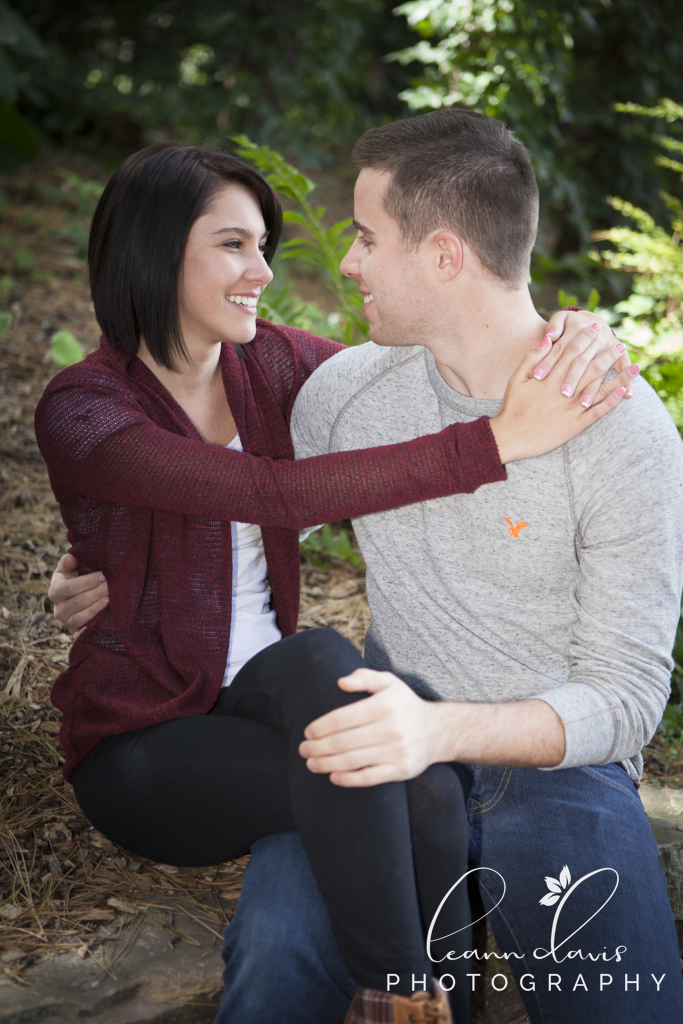
[[[302,389],[300,458],[494,415],[544,334],[526,287],[538,190],[500,123],[437,112],[369,132],[354,155],[342,268],[374,344]],[[371,695],[311,723],[302,756],[348,786],[454,765],[471,866],[533,1024],[683,1016],[632,781],[669,692],[682,490],[680,439],[638,382],[629,406],[504,482],[354,523],[371,669],[340,685]],[[256,844],[225,956],[221,1024],[343,1020],[353,986],[296,836]]]

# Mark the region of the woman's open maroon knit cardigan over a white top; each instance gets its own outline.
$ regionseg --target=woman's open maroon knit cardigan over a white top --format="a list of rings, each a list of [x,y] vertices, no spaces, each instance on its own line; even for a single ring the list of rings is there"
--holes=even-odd
[[[101,570],[110,590],[52,689],[68,779],[102,736],[215,703],[230,635],[230,520],[262,526],[272,607],[288,636],[300,527],[505,479],[485,418],[403,444],[292,461],[294,399],[343,346],[257,325],[242,356],[228,344],[221,353],[245,454],[206,443],[144,364],[105,338],[57,374],[38,404],[38,444],[72,551],[80,571]]]

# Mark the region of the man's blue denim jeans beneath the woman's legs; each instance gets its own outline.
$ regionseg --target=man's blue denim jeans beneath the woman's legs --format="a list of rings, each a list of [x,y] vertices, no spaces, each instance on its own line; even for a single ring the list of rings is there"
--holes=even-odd
[[[531,1024],[683,1021],[674,918],[626,772],[455,770],[473,878]],[[217,1024],[342,1024],[353,984],[296,834],[254,845],[223,956]],[[471,972],[481,984],[476,957]]]

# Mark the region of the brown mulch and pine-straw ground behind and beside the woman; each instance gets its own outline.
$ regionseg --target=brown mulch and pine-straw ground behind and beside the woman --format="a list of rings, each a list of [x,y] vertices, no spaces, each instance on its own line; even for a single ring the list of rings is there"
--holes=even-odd
[[[0,179],[9,199],[0,217],[0,310],[13,314],[0,339],[0,968],[17,984],[38,957],[66,950],[106,969],[105,943],[141,921],[145,907],[159,908],[171,944],[187,937],[170,904],[217,942],[247,862],[177,868],[131,857],[91,827],[61,777],[60,716],[49,691],[72,640],[46,595],[67,540],[33,414],[57,372],[53,332],[71,331],[86,350],[97,346],[99,332],[78,244],[61,237],[65,218],[73,227],[79,217],[68,194],[60,202],[59,166],[55,158]],[[75,169],[88,176],[87,168]],[[364,573],[330,564],[302,565],[300,627],[334,626],[361,646]]]

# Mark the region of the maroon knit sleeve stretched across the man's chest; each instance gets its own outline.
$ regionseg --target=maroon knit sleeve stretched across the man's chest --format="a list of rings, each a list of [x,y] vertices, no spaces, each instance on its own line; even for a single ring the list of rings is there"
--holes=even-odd
[[[401,444],[275,460],[165,430],[105,384],[48,388],[36,435],[58,501],[75,497],[299,529],[505,479],[485,418]]]

